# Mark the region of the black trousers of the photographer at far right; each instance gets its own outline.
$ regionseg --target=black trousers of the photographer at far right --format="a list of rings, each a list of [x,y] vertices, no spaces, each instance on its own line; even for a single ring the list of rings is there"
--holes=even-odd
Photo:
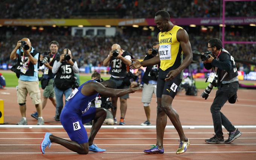
[[[232,132],[235,127],[227,119],[227,117],[220,112],[221,107],[229,100],[230,97],[236,94],[238,90],[238,82],[232,82],[227,84],[221,84],[221,88],[216,92],[216,96],[211,106],[212,120],[214,126],[214,132],[216,136],[222,136],[222,125],[227,131]]]

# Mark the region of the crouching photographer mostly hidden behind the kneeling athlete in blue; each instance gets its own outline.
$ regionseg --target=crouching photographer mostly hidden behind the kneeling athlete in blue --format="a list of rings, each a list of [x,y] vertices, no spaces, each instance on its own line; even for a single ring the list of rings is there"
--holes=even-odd
[[[95,80],[99,83],[103,82],[104,80],[101,78],[101,75],[98,72],[94,72],[91,75],[91,80]],[[112,109],[112,102],[110,97],[103,97],[102,95],[98,95],[94,100],[94,103],[91,103],[91,107],[97,107],[97,108],[104,108],[107,111],[107,116],[104,120],[104,124],[107,125],[113,125],[114,124],[114,118],[113,114],[109,109]],[[91,125],[91,124],[90,124]]]

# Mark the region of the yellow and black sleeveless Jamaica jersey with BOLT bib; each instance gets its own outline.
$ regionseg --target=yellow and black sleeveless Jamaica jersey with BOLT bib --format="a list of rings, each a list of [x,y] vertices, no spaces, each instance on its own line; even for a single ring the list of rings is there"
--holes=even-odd
[[[159,78],[166,78],[169,71],[177,69],[182,63],[183,51],[180,42],[177,40],[177,32],[179,29],[182,28],[174,26],[168,32],[159,33]],[[181,71],[177,77],[182,79],[183,71]]]

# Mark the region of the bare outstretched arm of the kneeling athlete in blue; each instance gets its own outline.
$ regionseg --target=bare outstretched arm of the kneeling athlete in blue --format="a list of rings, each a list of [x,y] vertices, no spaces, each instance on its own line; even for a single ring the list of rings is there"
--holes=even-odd
[[[82,88],[82,94],[90,96],[96,93],[101,94],[105,97],[122,97],[123,95],[134,93],[135,91],[141,90],[141,87],[129,88],[129,89],[111,89],[104,87],[101,83],[98,82],[89,82],[88,85],[84,85]]]

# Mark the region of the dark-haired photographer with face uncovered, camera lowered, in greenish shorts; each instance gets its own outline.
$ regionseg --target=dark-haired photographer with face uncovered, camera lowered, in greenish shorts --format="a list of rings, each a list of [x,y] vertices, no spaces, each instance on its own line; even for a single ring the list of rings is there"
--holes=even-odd
[[[47,104],[47,98],[49,98],[52,101],[52,104],[54,107],[56,107],[56,99],[55,99],[55,94],[54,94],[54,87],[53,87],[53,82],[54,82],[54,76],[55,74],[52,73],[52,66],[54,64],[54,61],[59,58],[60,54],[58,52],[59,48],[59,43],[56,41],[52,41],[49,44],[50,46],[50,53],[45,52],[42,56],[41,64],[44,65],[44,74],[41,77],[41,86],[42,89],[44,89],[43,92],[43,100],[42,100],[42,106],[43,109]],[[35,119],[38,119],[38,113],[32,113],[31,116]]]

